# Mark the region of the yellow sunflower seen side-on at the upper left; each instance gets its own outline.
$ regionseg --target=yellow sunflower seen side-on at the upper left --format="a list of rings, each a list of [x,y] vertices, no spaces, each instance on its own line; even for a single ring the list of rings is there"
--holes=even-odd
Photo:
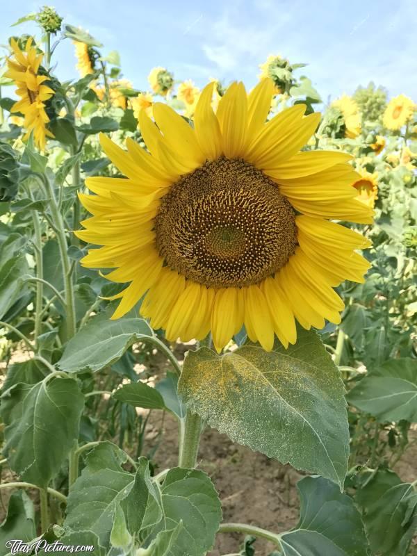
[[[44,85],[48,81],[46,75],[38,75],[43,54],[38,54],[32,46],[32,38],[26,42],[24,50],[19,49],[17,42],[12,39],[11,47],[14,58],[7,60],[8,71],[6,77],[13,79],[17,85],[16,93],[20,100],[13,104],[10,112],[21,112],[24,115],[24,140],[33,133],[35,145],[43,150],[46,138],[54,135],[47,129],[49,117],[45,112],[45,101],[54,95],[54,90]]]

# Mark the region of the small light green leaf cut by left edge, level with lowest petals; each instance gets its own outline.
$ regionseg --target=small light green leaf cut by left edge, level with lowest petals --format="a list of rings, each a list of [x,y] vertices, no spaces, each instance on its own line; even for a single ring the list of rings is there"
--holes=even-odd
[[[7,313],[13,303],[21,297],[22,279],[29,272],[26,256],[17,255],[9,259],[0,268],[0,319]]]

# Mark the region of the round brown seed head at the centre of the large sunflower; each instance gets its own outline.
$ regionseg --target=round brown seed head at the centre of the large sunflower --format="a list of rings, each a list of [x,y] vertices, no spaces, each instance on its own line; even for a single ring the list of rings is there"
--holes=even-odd
[[[297,245],[295,214],[277,184],[252,164],[224,157],[174,183],[155,231],[172,270],[215,288],[258,284]]]

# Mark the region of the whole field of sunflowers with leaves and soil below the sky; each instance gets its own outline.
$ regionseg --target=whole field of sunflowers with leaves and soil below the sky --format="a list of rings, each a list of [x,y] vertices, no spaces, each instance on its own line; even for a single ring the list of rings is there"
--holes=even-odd
[[[414,100],[12,31],[0,556],[417,555]]]

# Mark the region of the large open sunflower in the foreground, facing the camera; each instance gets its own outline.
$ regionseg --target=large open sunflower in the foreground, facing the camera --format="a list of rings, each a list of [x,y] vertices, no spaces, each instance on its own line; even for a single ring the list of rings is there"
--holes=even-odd
[[[299,152],[320,121],[297,104],[265,123],[270,79],[249,95],[232,83],[211,108],[213,83],[190,126],[165,104],[139,122],[146,150],[127,152],[101,134],[104,152],[127,179],[92,177],[96,195],[80,194],[92,218],[76,235],[101,245],[82,264],[113,268],[128,283],[112,318],[145,295],[140,312],[169,341],[200,340],[211,330],[218,351],[243,325],[271,350],[296,341],[295,319],[321,329],[338,323],[343,301],[334,287],[363,281],[369,268],[356,252],[370,243],[330,219],[372,222],[354,199],[359,174],[342,152]]]

